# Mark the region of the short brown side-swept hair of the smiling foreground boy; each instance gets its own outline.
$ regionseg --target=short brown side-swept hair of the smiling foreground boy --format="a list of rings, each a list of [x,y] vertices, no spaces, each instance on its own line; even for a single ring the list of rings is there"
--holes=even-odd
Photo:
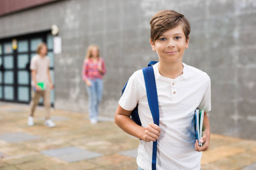
[[[190,24],[184,15],[177,13],[174,10],[161,10],[156,13],[150,20],[150,38],[154,42],[157,40],[164,32],[169,29],[176,28],[180,24],[183,25],[183,31],[186,36],[186,41],[188,40],[188,35],[190,33]]]

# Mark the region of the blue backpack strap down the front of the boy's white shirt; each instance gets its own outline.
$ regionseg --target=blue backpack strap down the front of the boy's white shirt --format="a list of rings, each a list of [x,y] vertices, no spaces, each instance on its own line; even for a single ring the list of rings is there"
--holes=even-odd
[[[142,70],[143,70],[143,75],[144,75],[144,80],[146,85],[148,105],[154,120],[154,124],[159,126],[159,106],[158,106],[154,70],[152,66],[144,67]],[[157,140],[156,142],[153,142],[152,170],[156,170],[156,153],[157,153]]]

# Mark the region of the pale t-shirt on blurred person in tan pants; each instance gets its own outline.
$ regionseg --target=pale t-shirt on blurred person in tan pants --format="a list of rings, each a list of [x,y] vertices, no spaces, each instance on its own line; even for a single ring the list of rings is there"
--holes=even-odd
[[[50,58],[48,56],[40,57],[35,55],[31,59],[30,70],[36,70],[36,82],[44,82],[49,84],[48,70],[50,67]],[[31,85],[34,86],[33,79]]]

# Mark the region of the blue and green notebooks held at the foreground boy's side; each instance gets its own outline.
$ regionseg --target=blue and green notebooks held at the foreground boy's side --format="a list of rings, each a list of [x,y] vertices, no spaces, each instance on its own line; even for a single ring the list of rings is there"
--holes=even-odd
[[[202,138],[203,120],[204,120],[204,110],[199,110],[199,108],[197,108],[195,110],[195,134],[196,134],[196,139],[198,140],[198,143],[200,146],[202,146],[200,139]]]

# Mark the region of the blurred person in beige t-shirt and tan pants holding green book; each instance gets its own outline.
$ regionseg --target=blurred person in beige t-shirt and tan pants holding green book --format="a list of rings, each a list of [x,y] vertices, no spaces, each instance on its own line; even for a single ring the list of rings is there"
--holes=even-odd
[[[55,126],[55,123],[50,119],[50,90],[53,89],[53,84],[51,82],[51,75],[50,75],[50,59],[46,55],[47,54],[47,46],[46,43],[41,42],[36,52],[38,55],[35,55],[31,59],[30,69],[31,69],[31,87],[32,87],[32,100],[30,103],[30,113],[28,116],[27,124],[29,126],[34,125],[34,111],[36,106],[38,105],[38,101],[42,96],[44,98],[44,106],[46,109],[46,118],[44,125],[52,128]],[[44,83],[46,88],[42,90],[38,86],[38,82]]]

